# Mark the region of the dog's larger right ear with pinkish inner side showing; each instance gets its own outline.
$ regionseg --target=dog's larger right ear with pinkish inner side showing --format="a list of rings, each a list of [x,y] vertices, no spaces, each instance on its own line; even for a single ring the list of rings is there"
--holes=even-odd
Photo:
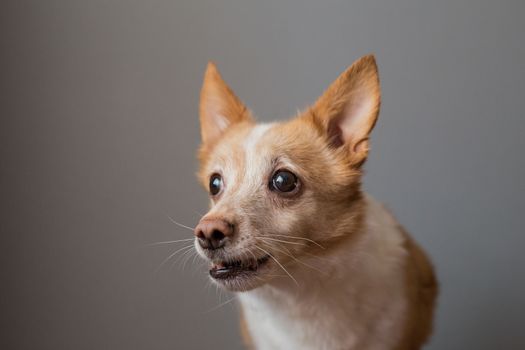
[[[372,55],[355,61],[311,108],[331,146],[345,147],[354,164],[368,154],[368,137],[379,114],[380,88]]]

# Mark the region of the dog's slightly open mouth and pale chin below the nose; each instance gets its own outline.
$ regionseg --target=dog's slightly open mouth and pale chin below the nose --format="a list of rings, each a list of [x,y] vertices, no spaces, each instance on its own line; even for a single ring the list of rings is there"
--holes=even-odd
[[[213,260],[210,278],[221,287],[232,292],[244,292],[265,283],[265,274],[270,270],[270,256],[243,257]]]

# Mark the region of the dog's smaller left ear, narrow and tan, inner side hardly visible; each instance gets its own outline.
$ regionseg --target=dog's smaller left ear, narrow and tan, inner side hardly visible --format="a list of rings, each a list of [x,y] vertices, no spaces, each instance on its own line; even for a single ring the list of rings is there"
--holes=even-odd
[[[216,141],[230,125],[251,120],[248,109],[226,85],[212,62],[204,74],[199,112],[203,144]]]

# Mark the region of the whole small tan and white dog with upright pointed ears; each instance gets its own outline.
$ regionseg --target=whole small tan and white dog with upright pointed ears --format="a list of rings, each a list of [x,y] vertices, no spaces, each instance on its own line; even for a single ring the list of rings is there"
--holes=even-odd
[[[432,329],[430,262],[361,190],[380,104],[365,56],[296,118],[256,124],[210,63],[195,228],[210,276],[238,293],[254,349],[420,349]]]

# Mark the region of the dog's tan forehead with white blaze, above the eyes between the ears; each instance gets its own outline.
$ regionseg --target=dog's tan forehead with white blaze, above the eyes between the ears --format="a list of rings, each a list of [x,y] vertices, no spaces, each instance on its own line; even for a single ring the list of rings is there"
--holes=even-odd
[[[204,166],[236,180],[259,179],[275,166],[299,172],[323,172],[334,165],[316,129],[302,120],[235,125],[215,145]]]

